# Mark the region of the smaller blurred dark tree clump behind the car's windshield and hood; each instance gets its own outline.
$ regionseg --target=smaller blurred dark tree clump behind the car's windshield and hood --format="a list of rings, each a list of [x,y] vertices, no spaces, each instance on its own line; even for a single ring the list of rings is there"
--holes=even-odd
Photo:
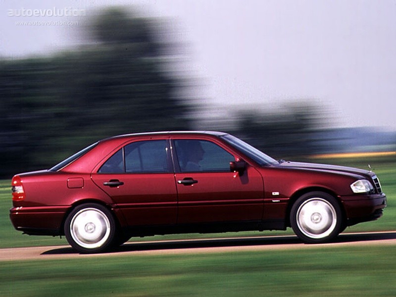
[[[307,102],[284,106],[282,112],[241,110],[237,128],[230,131],[275,158],[296,158],[317,153],[319,110]]]

